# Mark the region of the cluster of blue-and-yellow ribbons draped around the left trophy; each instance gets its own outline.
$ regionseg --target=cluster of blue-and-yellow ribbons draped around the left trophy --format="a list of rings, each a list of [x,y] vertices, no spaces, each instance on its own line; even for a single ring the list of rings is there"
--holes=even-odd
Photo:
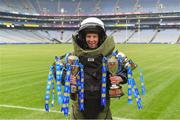
[[[62,58],[65,57],[65,63]],[[64,78],[63,78],[64,74]],[[76,83],[71,84],[71,75],[76,77]],[[54,79],[55,80],[54,80]],[[64,89],[62,89],[62,79],[64,79]],[[56,90],[55,92],[55,84]],[[49,111],[50,94],[52,93],[52,104],[54,106],[55,93],[57,93],[58,104],[61,105],[61,111],[65,116],[69,113],[70,94],[78,93],[78,101],[80,110],[84,110],[84,71],[83,65],[79,63],[77,56],[72,53],[67,53],[65,56],[55,57],[54,65],[50,66],[48,74],[46,95],[45,95],[45,110]]]

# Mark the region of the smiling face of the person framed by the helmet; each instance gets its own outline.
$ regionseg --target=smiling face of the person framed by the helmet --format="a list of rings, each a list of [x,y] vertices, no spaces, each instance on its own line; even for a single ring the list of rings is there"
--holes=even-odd
[[[99,35],[96,33],[87,33],[86,34],[86,43],[89,48],[97,48],[99,42]]]

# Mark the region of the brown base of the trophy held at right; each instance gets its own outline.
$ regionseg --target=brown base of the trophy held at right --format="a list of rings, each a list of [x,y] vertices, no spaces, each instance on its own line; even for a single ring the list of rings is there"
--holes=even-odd
[[[117,88],[117,89],[110,89],[109,90],[109,96],[110,98],[120,98],[121,96],[123,96],[124,93],[122,91],[121,88]]]

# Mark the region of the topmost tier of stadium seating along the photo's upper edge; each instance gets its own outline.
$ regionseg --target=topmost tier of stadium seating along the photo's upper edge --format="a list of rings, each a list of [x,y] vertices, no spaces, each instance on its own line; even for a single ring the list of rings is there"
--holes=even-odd
[[[0,0],[0,11],[26,14],[177,12],[179,0]]]

